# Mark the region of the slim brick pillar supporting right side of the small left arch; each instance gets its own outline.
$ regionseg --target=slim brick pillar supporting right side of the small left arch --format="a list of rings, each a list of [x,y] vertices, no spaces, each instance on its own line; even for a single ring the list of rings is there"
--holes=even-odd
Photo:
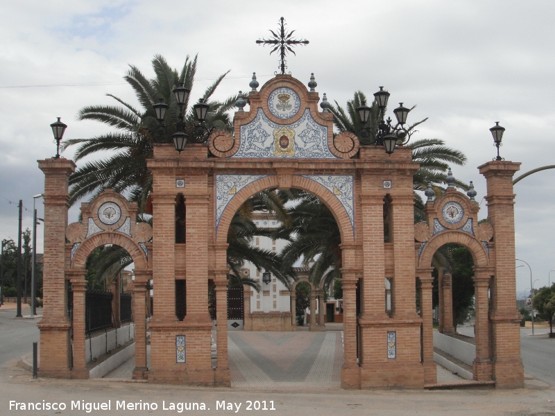
[[[133,379],[148,379],[146,358],[146,285],[150,279],[148,270],[135,270],[133,281],[133,320],[135,322],[135,369]]]

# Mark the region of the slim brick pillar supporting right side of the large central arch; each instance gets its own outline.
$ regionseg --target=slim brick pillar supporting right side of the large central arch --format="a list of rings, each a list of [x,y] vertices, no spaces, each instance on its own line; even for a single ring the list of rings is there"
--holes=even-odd
[[[360,388],[357,363],[357,279],[355,272],[341,269],[343,277],[343,367],[341,387]]]

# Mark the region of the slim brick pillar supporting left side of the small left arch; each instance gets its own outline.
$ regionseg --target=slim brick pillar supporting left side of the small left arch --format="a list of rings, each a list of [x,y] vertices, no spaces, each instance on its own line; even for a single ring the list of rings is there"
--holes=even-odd
[[[85,274],[87,270],[80,270],[80,275],[75,273],[71,277],[71,286],[74,291],[74,367],[71,369],[72,379],[88,379],[89,370],[85,357],[85,292],[87,291],[87,281]]]

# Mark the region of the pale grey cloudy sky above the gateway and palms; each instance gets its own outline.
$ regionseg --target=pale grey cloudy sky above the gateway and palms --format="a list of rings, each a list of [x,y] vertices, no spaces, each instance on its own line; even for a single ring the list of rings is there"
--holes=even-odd
[[[113,103],[106,93],[136,103],[122,77],[128,64],[153,76],[156,54],[180,68],[198,53],[194,99],[228,69],[216,98],[248,90],[253,71],[262,85],[278,59],[255,40],[281,16],[310,42],[288,60],[294,77],[306,83],[314,72],[316,90],[342,105],[379,85],[391,92],[391,110],[399,101],[418,104],[409,121],[429,121],[416,137],[466,153],[468,164],[453,172],[474,181],[477,200],[486,186],[477,166],[495,156],[488,131],[495,121],[506,128],[501,154],[522,162],[521,173],[555,164],[553,1],[22,0],[2,2],[0,14],[1,239],[17,236],[17,206],[8,201],[22,199],[24,227],[32,225],[32,197],[43,190],[36,160],[56,153],[49,127],[56,116],[69,125],[68,139],[107,131],[76,121],[78,110]],[[540,279],[535,287],[555,269],[553,177],[544,171],[515,186],[517,257]],[[484,218],[485,201],[481,209]],[[520,295],[529,286],[529,270],[518,268]]]

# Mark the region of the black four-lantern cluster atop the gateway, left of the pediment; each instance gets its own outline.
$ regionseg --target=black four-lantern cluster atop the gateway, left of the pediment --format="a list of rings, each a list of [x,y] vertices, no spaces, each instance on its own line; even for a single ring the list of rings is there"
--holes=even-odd
[[[169,143],[170,141],[173,141],[173,145],[176,147],[176,150],[181,153],[182,150],[185,149],[187,140],[193,141],[194,143],[204,143],[208,140],[210,134],[212,134],[213,128],[209,128],[205,124],[210,105],[205,103],[203,98],[200,98],[198,103],[193,105],[197,121],[187,124],[184,121],[184,110],[191,90],[185,88],[183,83],[180,83],[179,87],[174,88],[172,92],[179,107],[178,121],[171,124],[164,123],[167,111],[169,110],[169,105],[164,103],[164,98],[160,98],[160,101],[153,105],[156,119],[158,121],[158,126],[154,129],[153,139],[155,139],[158,143]],[[167,139],[167,132],[169,127],[172,125],[176,126],[176,132],[173,133],[169,139]],[[189,132],[189,135],[187,132]]]

